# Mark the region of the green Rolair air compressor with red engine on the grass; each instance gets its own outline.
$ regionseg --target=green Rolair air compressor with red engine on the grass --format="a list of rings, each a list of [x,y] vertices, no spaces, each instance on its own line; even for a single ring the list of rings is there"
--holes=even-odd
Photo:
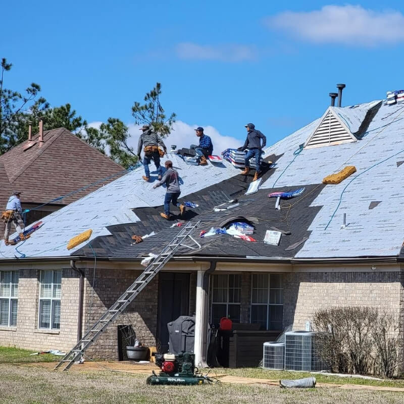
[[[146,384],[194,385],[214,382],[212,378],[199,373],[198,368],[195,368],[195,355],[189,352],[182,352],[179,355],[157,352],[155,363],[161,372],[157,375],[153,371],[153,374],[146,379]]]

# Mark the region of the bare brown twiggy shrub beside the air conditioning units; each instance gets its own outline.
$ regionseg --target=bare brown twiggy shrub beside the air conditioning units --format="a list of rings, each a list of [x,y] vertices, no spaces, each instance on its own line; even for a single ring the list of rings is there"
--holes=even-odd
[[[391,377],[400,363],[398,324],[367,307],[318,310],[313,319],[316,348],[333,372]]]

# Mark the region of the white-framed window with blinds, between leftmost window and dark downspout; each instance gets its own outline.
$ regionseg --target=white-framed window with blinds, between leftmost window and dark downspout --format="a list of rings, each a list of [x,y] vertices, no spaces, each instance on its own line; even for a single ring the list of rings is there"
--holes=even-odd
[[[39,328],[60,329],[62,271],[41,271],[39,288]]]

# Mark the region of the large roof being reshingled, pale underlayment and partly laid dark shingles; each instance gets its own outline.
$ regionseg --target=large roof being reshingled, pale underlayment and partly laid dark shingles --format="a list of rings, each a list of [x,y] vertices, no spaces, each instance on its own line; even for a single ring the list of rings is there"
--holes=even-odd
[[[377,108],[369,106],[377,105]],[[371,112],[369,112],[372,110]],[[183,181],[181,198],[199,204],[188,209],[185,220],[201,220],[195,231],[219,226],[241,216],[256,225],[257,242],[228,235],[197,238],[202,248],[179,254],[222,257],[283,257],[294,259],[350,259],[356,257],[398,257],[404,239],[404,105],[385,106],[380,102],[334,107],[333,111],[358,128],[358,141],[304,149],[304,144],[318,127],[320,119],[285,137],[266,149],[266,156],[276,160],[275,168],[263,176],[260,190],[243,193],[251,176],[240,176],[230,163],[206,167],[188,166],[176,155],[167,157],[178,168]],[[356,112],[357,111],[357,112]],[[365,112],[364,112],[365,111]],[[349,119],[348,119],[349,118]],[[350,126],[349,126],[350,127]],[[336,185],[322,180],[346,166],[357,172]],[[26,257],[88,256],[95,253],[110,259],[134,259],[145,252],[161,248],[178,228],[173,221],[160,218],[165,189],[153,190],[153,182],[142,181],[139,168],[114,182],[84,196],[70,206],[43,219],[37,230],[19,251]],[[156,173],[152,177],[156,179]],[[275,198],[267,194],[305,187],[292,199],[282,200],[275,210]],[[240,206],[233,211],[215,213],[213,207],[229,198],[238,198]],[[175,208],[173,213],[175,213]],[[346,214],[346,226],[343,217]],[[290,231],[282,235],[278,246],[263,243],[271,227]],[[88,244],[73,251],[66,249],[68,240],[91,228]],[[132,244],[131,235],[158,232],[143,242]],[[291,247],[288,249],[288,247]],[[0,246],[5,257],[13,258],[14,247]]]

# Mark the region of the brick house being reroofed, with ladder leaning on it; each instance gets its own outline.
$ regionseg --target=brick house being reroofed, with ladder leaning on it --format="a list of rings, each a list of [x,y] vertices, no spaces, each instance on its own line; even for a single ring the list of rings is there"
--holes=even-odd
[[[183,181],[180,200],[199,205],[184,220],[201,222],[193,234],[200,248],[179,250],[88,355],[120,358],[123,325],[132,325],[146,345],[158,340],[167,347],[167,322],[193,313],[196,364],[206,357],[207,324],[223,316],[247,329],[259,324],[271,340],[288,325],[305,329],[319,308],[369,306],[393,314],[402,336],[402,112],[381,102],[328,108],[266,150],[276,165],[251,195],[244,195],[251,177],[231,164],[188,166],[169,154]],[[322,183],[345,166],[356,173],[336,185]],[[45,217],[43,228],[17,248],[1,246],[2,287],[14,290],[0,296],[2,344],[69,350],[141,273],[140,260],[175,236],[174,221],[159,215],[165,189],[152,188],[157,175],[151,183],[141,175],[141,168],[131,171]],[[267,196],[302,187],[300,196],[281,200],[281,210]],[[234,198],[233,210],[214,211]],[[225,234],[199,238],[201,230],[240,218],[255,224],[256,242]],[[266,244],[271,227],[291,234],[279,245]],[[67,250],[69,239],[87,229],[91,238]],[[132,242],[132,235],[152,231]],[[254,338],[248,349],[262,352]]]

